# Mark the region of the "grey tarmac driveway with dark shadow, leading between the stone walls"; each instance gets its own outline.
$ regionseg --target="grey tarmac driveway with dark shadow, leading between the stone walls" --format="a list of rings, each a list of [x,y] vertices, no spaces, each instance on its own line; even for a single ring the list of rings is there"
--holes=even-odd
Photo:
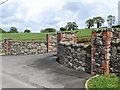
[[[2,56],[2,72],[37,88],[84,88],[91,75],[69,69],[56,59],[56,53]]]

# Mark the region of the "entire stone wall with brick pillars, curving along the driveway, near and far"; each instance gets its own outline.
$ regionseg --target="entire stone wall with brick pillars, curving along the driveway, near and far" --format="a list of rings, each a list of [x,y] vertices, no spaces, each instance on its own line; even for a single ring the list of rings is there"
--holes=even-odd
[[[64,32],[46,36],[46,42],[5,40],[8,55],[55,52],[59,62],[91,73],[120,73],[120,29],[92,32],[92,45],[77,44],[76,34]]]

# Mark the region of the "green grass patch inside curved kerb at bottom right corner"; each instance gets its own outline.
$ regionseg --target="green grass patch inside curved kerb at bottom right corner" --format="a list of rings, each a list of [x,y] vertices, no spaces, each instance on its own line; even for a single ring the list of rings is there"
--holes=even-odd
[[[115,74],[99,75],[88,82],[88,88],[119,88],[120,78]]]

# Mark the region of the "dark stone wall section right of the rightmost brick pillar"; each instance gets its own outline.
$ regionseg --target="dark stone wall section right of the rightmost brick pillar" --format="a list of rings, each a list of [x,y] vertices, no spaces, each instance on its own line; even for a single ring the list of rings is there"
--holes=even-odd
[[[120,76],[120,29],[119,30],[114,29],[114,32],[112,33],[110,53],[111,53],[110,61],[111,72],[114,72],[118,76]]]

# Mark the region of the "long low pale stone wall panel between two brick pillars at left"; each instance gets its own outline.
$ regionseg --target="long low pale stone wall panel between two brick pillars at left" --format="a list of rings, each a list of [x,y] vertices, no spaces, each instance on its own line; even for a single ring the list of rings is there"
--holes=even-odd
[[[8,55],[29,55],[47,52],[46,42],[9,41]]]

